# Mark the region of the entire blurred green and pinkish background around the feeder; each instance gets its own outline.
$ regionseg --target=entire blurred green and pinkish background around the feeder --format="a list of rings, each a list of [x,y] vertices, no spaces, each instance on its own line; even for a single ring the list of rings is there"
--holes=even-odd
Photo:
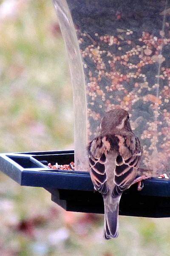
[[[68,61],[50,0],[0,0],[0,152],[73,149]],[[0,173],[1,256],[169,256],[170,219],[65,212],[42,188]]]

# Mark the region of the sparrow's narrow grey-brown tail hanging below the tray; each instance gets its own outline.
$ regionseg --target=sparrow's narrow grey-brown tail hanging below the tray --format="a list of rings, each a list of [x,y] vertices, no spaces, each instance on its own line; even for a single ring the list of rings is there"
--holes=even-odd
[[[104,238],[112,239],[119,235],[119,203],[114,207],[115,209],[108,209],[108,205],[105,204],[105,227],[104,227]],[[110,208],[110,207],[109,207]]]

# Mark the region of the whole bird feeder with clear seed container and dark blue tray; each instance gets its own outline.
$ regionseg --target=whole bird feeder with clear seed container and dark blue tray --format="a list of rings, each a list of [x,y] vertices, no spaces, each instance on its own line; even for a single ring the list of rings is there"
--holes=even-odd
[[[167,0],[53,0],[74,94],[74,151],[0,154],[0,169],[23,186],[40,186],[66,210],[103,213],[94,193],[87,145],[114,108],[130,114],[143,146],[138,175],[119,214],[170,217],[170,3]],[[49,170],[45,163],[75,171]],[[79,191],[77,193],[77,191]]]

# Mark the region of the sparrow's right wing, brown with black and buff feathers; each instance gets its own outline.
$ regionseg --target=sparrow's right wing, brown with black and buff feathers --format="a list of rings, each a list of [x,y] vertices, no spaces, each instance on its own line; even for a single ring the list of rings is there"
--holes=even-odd
[[[126,137],[121,142],[119,140],[120,150],[119,155],[116,157],[116,168],[114,170],[114,183],[116,186],[113,189],[113,197],[121,195],[136,178],[142,154],[137,137],[131,138],[131,147],[127,145],[126,140]]]

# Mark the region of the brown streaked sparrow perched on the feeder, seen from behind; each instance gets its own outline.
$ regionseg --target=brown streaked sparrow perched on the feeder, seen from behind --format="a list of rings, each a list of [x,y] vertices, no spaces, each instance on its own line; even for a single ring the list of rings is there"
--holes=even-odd
[[[133,133],[129,113],[113,109],[102,119],[97,136],[88,145],[91,180],[102,193],[105,207],[104,238],[119,235],[119,201],[135,183],[142,148]]]

